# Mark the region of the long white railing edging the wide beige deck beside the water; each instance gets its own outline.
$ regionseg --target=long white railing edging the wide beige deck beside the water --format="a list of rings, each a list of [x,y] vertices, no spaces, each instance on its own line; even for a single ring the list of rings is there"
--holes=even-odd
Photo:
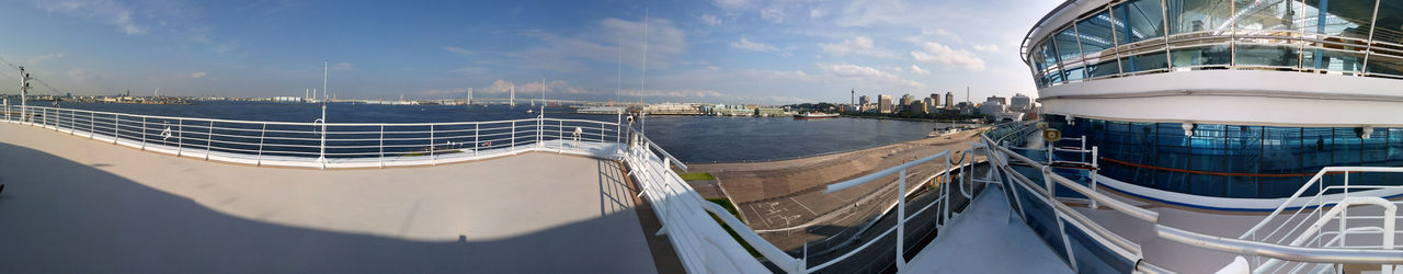
[[[609,155],[619,122],[529,118],[337,124],[208,119],[6,105],[4,121],[142,150],[254,166],[421,166],[543,150]]]

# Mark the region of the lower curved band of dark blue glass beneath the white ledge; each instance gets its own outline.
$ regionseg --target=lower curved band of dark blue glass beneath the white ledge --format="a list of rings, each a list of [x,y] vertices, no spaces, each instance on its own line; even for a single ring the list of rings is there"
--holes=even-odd
[[[1101,176],[1194,195],[1282,198],[1327,166],[1403,166],[1403,128],[1374,128],[1364,139],[1360,128],[1200,124],[1186,136],[1177,122],[1066,122],[1061,115],[1044,121],[1063,136],[1086,136],[1087,146],[1097,146]],[[1322,180],[1337,185],[1344,174]],[[1357,173],[1350,181],[1403,184],[1403,174]]]

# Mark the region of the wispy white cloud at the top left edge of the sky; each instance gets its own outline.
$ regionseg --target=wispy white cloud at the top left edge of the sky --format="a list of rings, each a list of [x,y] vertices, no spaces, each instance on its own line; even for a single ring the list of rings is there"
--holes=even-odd
[[[88,21],[115,25],[118,32],[126,35],[146,34],[146,27],[137,25],[132,8],[115,0],[62,0],[38,1],[38,7],[49,13],[80,17]]]

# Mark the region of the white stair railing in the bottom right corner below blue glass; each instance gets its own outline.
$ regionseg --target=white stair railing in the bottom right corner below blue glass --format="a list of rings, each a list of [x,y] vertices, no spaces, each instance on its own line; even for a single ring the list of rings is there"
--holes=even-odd
[[[1403,173],[1403,167],[1326,167],[1310,177],[1295,194],[1237,239],[1294,247],[1337,250],[1392,250],[1403,232],[1395,229],[1397,207],[1379,195],[1403,193],[1403,185],[1351,184],[1351,174]],[[1326,176],[1338,176],[1343,184],[1326,185]],[[1309,198],[1308,191],[1312,191]],[[1382,191],[1382,193],[1381,193]],[[1375,211],[1350,214],[1351,205],[1375,205]],[[1287,212],[1291,211],[1291,212]],[[1330,229],[1333,228],[1333,229]],[[1257,256],[1256,273],[1302,270],[1338,270],[1340,263],[1291,261]],[[1383,273],[1396,266],[1383,264]]]

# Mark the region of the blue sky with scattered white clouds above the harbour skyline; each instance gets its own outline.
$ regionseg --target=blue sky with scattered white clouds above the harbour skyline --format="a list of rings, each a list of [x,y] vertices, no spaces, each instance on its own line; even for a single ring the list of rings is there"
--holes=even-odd
[[[74,96],[847,103],[1035,97],[1019,44],[1056,0],[36,0],[0,56]],[[4,67],[0,81],[17,83]],[[543,79],[549,84],[542,84]],[[18,84],[0,84],[14,94]],[[53,91],[41,87],[38,94]],[[303,93],[297,93],[303,91]]]

